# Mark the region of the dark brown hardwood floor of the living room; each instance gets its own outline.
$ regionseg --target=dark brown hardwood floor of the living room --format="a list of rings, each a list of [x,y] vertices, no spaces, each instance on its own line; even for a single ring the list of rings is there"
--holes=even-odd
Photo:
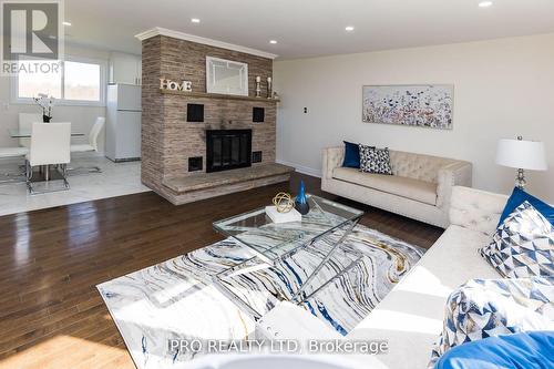
[[[212,222],[266,205],[300,180],[173,206],[154,193],[0,217],[0,368],[133,368],[95,285],[222,239]],[[435,228],[366,211],[361,224],[430,247]]]

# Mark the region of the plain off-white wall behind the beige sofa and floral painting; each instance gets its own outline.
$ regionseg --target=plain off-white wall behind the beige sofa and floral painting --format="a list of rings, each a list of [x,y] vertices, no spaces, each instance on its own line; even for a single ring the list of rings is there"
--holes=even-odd
[[[529,189],[554,203],[554,34],[277,61],[274,76],[280,162],[319,174],[321,148],[347,140],[468,160],[475,187],[507,193],[515,170],[494,163],[496,142],[523,135],[551,165]],[[363,84],[427,83],[454,84],[453,131],[361,122]]]

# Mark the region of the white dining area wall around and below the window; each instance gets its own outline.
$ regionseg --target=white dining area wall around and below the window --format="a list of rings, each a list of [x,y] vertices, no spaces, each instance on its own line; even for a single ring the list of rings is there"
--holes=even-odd
[[[107,60],[107,51],[75,45],[65,45],[65,54],[90,59]],[[106,71],[107,72],[107,71]],[[11,101],[11,79],[0,76],[0,147],[18,146],[18,141],[11,139],[8,130],[18,127],[19,113],[41,113],[35,104],[20,104]],[[72,130],[89,134],[98,116],[105,116],[105,106],[70,106],[57,105],[53,109],[53,122],[71,122]],[[85,137],[73,137],[72,142],[82,143]],[[99,151],[104,151],[104,134],[99,140]]]

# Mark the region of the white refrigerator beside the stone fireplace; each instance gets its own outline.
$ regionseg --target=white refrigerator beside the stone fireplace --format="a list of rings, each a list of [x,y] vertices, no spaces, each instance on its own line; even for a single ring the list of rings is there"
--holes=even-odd
[[[113,162],[141,158],[141,86],[110,84],[106,101],[105,153]]]

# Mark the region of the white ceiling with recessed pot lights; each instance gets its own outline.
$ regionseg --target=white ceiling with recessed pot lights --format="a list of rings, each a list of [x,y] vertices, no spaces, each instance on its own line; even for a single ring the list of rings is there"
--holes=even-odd
[[[493,0],[490,8],[479,2],[65,0],[73,24],[66,40],[140,53],[134,35],[162,27],[295,59],[554,32],[554,0]],[[346,32],[346,25],[356,29]]]

